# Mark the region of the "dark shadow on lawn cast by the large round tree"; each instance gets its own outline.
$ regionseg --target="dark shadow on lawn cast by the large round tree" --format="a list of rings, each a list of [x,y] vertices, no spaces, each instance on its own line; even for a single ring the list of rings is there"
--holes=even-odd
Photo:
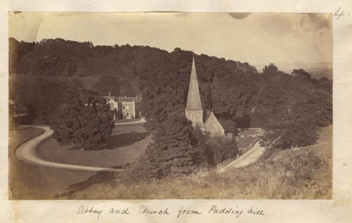
[[[106,149],[118,148],[121,146],[130,146],[137,141],[141,141],[148,136],[148,132],[130,132],[109,136],[106,139]]]

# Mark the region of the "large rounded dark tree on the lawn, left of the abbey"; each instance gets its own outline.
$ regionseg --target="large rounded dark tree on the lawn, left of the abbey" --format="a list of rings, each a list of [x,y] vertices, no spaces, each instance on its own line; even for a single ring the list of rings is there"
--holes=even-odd
[[[63,96],[51,129],[63,145],[94,150],[106,145],[114,127],[113,115],[105,99],[88,90],[68,89]]]

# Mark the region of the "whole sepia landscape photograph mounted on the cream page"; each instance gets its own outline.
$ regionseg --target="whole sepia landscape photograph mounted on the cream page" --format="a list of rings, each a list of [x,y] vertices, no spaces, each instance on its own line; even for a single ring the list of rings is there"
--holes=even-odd
[[[8,199],[332,199],[332,14],[11,11],[8,35]]]

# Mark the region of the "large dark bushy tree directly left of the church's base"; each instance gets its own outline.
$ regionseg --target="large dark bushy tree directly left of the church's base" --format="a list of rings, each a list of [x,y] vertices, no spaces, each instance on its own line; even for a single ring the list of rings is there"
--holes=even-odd
[[[183,115],[168,117],[153,134],[154,142],[146,149],[144,163],[137,161],[139,168],[134,170],[136,176],[162,178],[168,174],[189,174],[199,164],[200,156],[194,147],[193,128]]]

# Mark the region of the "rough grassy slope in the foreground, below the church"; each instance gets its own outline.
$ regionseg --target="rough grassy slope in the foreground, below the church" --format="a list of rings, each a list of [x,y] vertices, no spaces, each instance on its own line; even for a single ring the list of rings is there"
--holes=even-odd
[[[323,129],[320,142],[331,145],[332,127]],[[327,138],[325,136],[328,136]],[[96,177],[99,174],[97,174]],[[70,199],[331,199],[332,147],[322,144],[284,150],[253,165],[219,173],[201,170],[185,177],[151,182],[122,180],[92,184],[68,193]]]

